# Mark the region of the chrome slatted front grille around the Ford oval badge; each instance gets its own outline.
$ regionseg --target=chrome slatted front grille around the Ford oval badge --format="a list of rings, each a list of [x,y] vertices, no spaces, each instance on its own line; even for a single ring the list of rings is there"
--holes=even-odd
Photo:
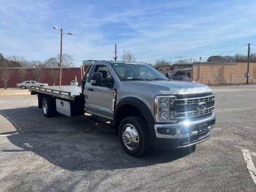
[[[171,111],[175,111],[176,118],[191,118],[206,114],[211,114],[214,110],[214,94],[197,98],[173,99],[174,107]],[[197,110],[200,102],[206,103],[204,110]]]

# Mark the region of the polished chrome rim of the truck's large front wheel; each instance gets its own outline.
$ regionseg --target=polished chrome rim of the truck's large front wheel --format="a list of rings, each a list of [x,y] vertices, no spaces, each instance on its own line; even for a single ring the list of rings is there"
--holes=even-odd
[[[139,138],[138,131],[132,124],[124,125],[122,138],[124,141],[124,145],[128,149],[135,150],[138,148],[140,143],[140,138]]]

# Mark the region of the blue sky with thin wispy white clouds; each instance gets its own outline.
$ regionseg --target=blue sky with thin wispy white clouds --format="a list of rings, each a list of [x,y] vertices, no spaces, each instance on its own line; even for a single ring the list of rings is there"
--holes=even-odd
[[[75,65],[111,60],[130,50],[138,61],[198,60],[247,43],[256,44],[256,1],[59,1],[0,0],[0,53],[27,60],[63,52]],[[256,47],[252,47],[252,52]],[[247,47],[233,53],[245,54]]]

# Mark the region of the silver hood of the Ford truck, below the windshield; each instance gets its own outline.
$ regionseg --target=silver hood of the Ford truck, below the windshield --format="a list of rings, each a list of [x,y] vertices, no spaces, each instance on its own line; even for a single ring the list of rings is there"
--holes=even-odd
[[[166,95],[187,95],[211,93],[212,89],[204,84],[182,81],[126,81],[127,86],[138,89],[157,90]]]

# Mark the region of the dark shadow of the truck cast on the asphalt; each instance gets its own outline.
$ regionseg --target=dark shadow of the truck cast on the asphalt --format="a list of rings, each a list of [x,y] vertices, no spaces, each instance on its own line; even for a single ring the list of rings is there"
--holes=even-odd
[[[146,156],[134,158],[124,152],[114,129],[90,122],[84,116],[45,118],[37,107],[0,112],[16,129],[0,134],[21,148],[12,150],[10,146],[2,150],[3,153],[33,151],[70,171],[143,167],[172,162],[188,155],[153,149]]]

